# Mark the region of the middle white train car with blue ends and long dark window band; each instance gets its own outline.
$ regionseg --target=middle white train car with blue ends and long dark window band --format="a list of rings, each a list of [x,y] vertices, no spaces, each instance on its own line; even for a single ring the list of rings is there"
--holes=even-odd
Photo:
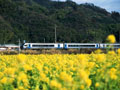
[[[99,43],[65,43],[64,48],[99,48]]]

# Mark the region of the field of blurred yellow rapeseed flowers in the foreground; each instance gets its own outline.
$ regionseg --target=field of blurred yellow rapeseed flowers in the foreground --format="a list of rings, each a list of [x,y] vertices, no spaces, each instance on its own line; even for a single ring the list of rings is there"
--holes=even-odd
[[[107,54],[0,55],[0,90],[120,90],[119,84],[120,49]]]

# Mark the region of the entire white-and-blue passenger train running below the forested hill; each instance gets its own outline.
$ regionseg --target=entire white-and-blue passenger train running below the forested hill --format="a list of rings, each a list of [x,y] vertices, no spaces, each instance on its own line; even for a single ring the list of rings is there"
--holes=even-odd
[[[80,48],[120,48],[120,44],[107,43],[24,43],[23,49],[80,49]]]

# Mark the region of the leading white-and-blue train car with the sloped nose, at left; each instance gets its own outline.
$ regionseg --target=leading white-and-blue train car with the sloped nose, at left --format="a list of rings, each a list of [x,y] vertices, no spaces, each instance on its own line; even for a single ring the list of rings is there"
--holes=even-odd
[[[62,43],[25,43],[23,49],[51,49],[63,48]]]

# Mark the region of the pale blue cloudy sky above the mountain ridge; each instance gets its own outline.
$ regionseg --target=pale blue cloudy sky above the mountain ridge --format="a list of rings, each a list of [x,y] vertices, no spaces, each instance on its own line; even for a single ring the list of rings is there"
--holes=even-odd
[[[66,0],[59,0],[66,1]],[[117,11],[120,12],[120,0],[72,0],[78,4],[81,3],[93,3],[96,6],[105,8],[107,11]]]

